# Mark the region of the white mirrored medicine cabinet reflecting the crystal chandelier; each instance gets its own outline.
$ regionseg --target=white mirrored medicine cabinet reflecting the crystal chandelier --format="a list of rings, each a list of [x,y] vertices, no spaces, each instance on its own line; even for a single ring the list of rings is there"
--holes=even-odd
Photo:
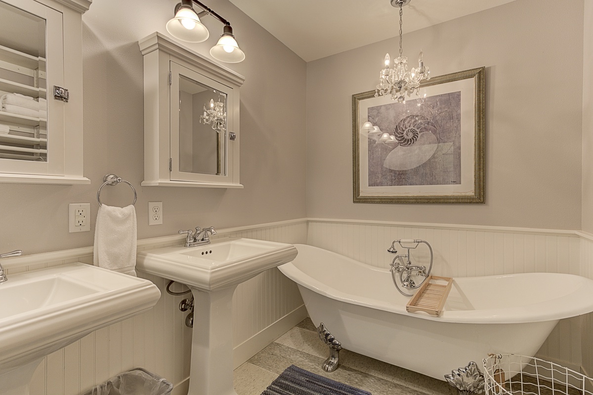
[[[142,186],[242,188],[239,90],[245,77],[158,32],[138,41],[138,45],[144,56]],[[189,106],[186,118],[190,119],[190,127],[181,119],[182,102]],[[222,102],[226,112],[226,122],[219,129],[212,124],[202,125],[204,117],[197,116],[202,114],[203,106],[213,106],[213,102]],[[209,145],[200,143],[203,138],[216,141],[215,148],[205,152],[204,146]],[[205,157],[211,159],[196,164]],[[208,170],[202,170],[203,166]]]

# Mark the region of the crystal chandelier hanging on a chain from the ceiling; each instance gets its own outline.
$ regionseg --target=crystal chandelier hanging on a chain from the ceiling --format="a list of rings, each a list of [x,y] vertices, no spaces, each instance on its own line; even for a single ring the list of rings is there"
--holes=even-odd
[[[375,90],[375,98],[379,95],[391,95],[391,100],[397,100],[400,103],[404,102],[406,95],[410,97],[412,93],[416,93],[416,96],[420,96],[420,82],[431,79],[431,72],[424,65],[422,50],[418,55],[418,68],[412,67],[411,71],[408,71],[407,57],[401,54],[401,17],[403,15],[401,8],[410,1],[391,0],[393,7],[400,8],[400,56],[393,60],[393,68],[391,68],[391,58],[389,54],[385,55],[385,69],[382,69],[379,75],[379,85]]]

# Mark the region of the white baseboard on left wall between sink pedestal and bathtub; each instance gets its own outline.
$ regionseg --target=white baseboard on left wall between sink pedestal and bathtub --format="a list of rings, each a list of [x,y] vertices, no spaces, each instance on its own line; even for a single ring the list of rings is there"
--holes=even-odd
[[[249,358],[262,351],[267,345],[288,332],[293,326],[305,318],[307,318],[307,309],[305,305],[301,305],[272,325],[262,329],[262,331],[257,332],[257,334],[251,336],[243,343],[235,346],[232,353],[232,368],[236,369],[240,367]]]

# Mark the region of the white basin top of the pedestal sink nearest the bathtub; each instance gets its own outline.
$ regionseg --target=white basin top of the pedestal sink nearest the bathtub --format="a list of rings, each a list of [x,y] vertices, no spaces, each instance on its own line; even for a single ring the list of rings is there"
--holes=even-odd
[[[136,268],[208,292],[236,286],[296,256],[291,244],[227,237],[200,247],[138,252]]]

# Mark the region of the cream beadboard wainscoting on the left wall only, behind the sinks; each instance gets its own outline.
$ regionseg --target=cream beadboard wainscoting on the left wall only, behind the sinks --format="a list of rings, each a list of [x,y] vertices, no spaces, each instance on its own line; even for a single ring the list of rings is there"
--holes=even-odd
[[[241,228],[221,229],[218,237],[248,237],[291,244],[307,241],[307,221],[275,222]],[[183,244],[184,237],[162,237],[138,241],[138,250]],[[92,264],[93,247],[48,252],[5,260],[7,274],[80,261]],[[182,299],[165,291],[168,280],[138,271],[161,291],[151,310],[99,329],[44,358],[30,385],[35,395],[79,395],[114,375],[143,367],[174,384],[173,395],[187,394],[192,329],[185,326],[187,313],[178,309]],[[180,292],[186,287],[174,284]],[[266,347],[306,318],[296,284],[276,268],[240,284],[233,299],[235,366]],[[195,312],[199,319],[200,312]],[[41,335],[41,334],[40,334]]]

